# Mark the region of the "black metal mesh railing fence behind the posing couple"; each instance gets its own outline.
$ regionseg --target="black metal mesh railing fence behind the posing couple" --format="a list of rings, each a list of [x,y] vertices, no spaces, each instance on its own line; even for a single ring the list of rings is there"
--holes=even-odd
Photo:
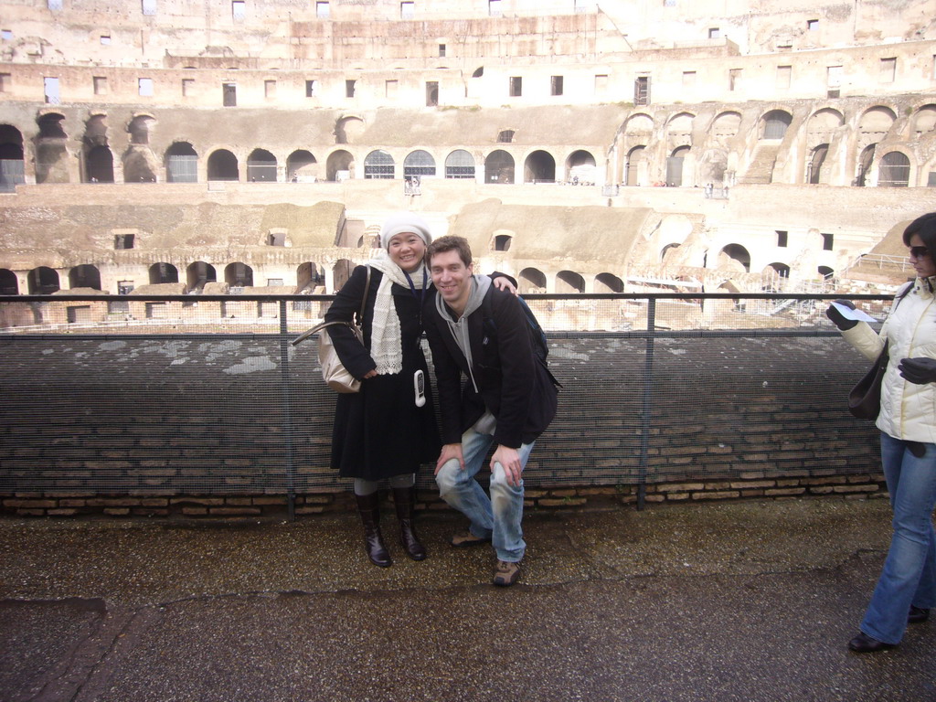
[[[835,296],[525,297],[563,385],[528,489],[879,470],[873,424],[846,410],[870,361],[826,319]],[[0,491],[348,490],[317,341],[290,344],[331,299],[0,298]]]

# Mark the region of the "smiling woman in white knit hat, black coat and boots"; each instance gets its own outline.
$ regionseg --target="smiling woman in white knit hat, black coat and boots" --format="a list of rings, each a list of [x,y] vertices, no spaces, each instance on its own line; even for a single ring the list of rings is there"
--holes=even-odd
[[[382,567],[393,563],[379,526],[377,483],[385,478],[393,491],[402,547],[415,561],[426,558],[413,528],[413,508],[416,471],[421,463],[434,462],[441,449],[421,346],[422,304],[434,294],[423,265],[431,241],[429,226],[416,213],[388,217],[380,232],[381,255],[352,271],[325,314],[326,322],[350,322],[367,288],[364,345],[346,327],[328,328],[344,367],[361,380],[359,392],[338,396],[331,467],[354,478],[364,548]],[[419,372],[423,397],[415,387]]]

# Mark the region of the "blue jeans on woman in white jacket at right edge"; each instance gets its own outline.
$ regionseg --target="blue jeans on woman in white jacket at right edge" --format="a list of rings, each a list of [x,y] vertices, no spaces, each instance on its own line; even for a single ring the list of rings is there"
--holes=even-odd
[[[894,535],[881,578],[871,595],[861,631],[888,644],[898,644],[907,628],[910,606],[936,606],[936,444],[922,444],[916,458],[907,442],[881,434]]]

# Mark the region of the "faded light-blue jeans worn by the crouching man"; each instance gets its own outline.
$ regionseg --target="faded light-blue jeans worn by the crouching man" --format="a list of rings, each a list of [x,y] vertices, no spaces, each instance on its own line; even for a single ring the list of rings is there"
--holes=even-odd
[[[490,475],[490,497],[475,480],[493,443],[491,434],[478,433],[474,427],[465,431],[461,435],[464,470],[461,470],[459,461],[447,461],[435,475],[435,482],[442,499],[471,519],[469,530],[472,534],[478,538],[490,538],[501,561],[518,563],[526,550],[520,525],[523,519],[522,479],[519,486],[509,485],[504,468],[500,463],[494,463]],[[533,444],[523,444],[517,449],[523,468],[532,450]]]

